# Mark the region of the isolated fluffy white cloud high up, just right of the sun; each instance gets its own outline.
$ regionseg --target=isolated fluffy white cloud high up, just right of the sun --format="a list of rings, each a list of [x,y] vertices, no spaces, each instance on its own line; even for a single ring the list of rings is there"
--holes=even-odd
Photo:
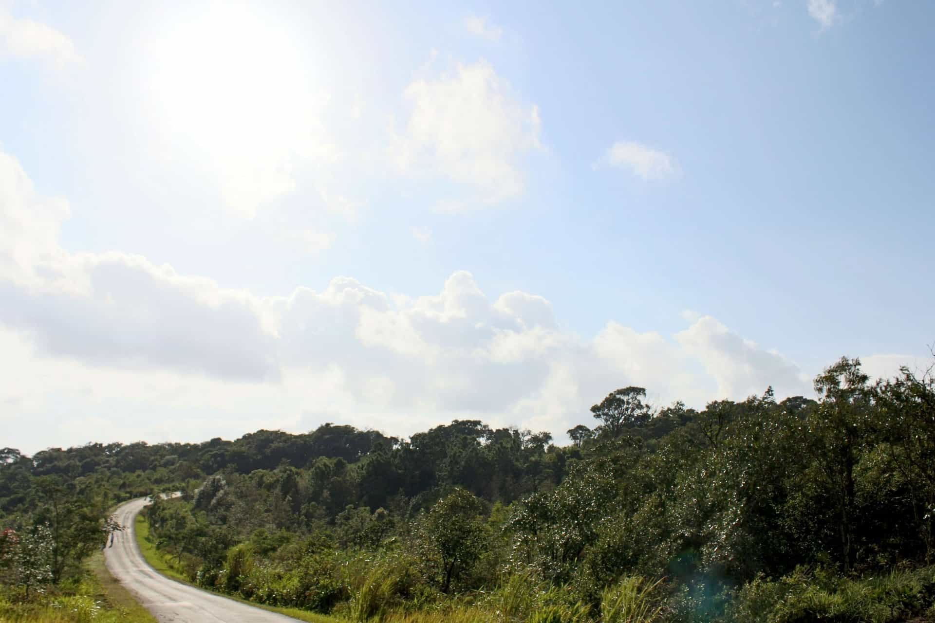
[[[390,149],[400,172],[474,189],[476,200],[450,204],[458,210],[523,193],[523,154],[540,147],[539,109],[522,104],[490,64],[458,64],[453,73],[417,79],[404,96],[410,118]]]

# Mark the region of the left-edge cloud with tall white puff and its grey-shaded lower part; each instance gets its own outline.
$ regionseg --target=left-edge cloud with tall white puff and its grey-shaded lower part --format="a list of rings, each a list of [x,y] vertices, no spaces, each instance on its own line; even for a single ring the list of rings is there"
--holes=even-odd
[[[39,352],[95,365],[263,380],[279,374],[261,301],[119,252],[68,253],[63,199],[0,152],[0,322]]]

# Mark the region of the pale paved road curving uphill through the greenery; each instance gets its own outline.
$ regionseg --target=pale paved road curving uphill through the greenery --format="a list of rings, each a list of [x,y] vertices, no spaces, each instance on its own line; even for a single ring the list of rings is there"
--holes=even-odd
[[[277,615],[244,603],[193,588],[156,573],[143,559],[134,535],[134,518],[149,502],[139,498],[122,504],[114,517],[127,526],[117,532],[114,544],[104,550],[108,569],[129,588],[160,622],[173,623],[295,623],[291,616]]]

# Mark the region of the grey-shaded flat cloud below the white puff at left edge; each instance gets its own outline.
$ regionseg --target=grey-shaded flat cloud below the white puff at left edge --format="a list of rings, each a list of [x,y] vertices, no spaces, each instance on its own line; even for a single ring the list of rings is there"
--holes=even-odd
[[[122,253],[68,258],[85,291],[0,285],[0,322],[37,349],[94,365],[276,378],[275,335],[250,294]]]

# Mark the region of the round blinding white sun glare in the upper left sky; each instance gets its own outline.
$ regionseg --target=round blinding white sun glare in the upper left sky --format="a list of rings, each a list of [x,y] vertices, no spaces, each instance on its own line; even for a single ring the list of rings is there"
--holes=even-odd
[[[153,39],[154,116],[171,142],[209,159],[277,162],[303,131],[314,102],[312,67],[281,22],[237,5],[169,17]],[[245,175],[276,176],[275,171]],[[276,179],[266,180],[277,184]]]

